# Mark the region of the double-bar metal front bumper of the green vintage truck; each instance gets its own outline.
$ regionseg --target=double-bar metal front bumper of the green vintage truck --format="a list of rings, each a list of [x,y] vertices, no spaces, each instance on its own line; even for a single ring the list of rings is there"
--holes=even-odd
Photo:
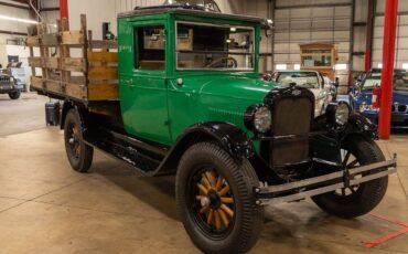
[[[374,172],[371,172],[374,170]],[[277,204],[299,201],[313,195],[319,195],[337,189],[350,188],[363,182],[387,177],[397,172],[397,156],[394,159],[345,169],[321,177],[309,178],[280,186],[255,188],[256,203],[258,205]],[[355,178],[362,174],[361,178]]]

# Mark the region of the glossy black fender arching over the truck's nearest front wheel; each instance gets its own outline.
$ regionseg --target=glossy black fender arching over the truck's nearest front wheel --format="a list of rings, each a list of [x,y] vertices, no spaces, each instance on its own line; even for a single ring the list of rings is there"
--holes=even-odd
[[[245,131],[235,125],[221,121],[207,121],[189,127],[174,142],[159,171],[173,172],[184,151],[197,142],[213,141],[218,144],[234,159],[249,159],[254,157],[253,140]]]

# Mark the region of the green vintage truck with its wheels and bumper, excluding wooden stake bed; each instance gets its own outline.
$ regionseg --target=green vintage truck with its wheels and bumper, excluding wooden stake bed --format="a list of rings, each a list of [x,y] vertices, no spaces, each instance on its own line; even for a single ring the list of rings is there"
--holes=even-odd
[[[119,99],[106,102],[118,113],[62,106],[72,167],[86,172],[98,148],[146,176],[175,174],[182,222],[205,253],[249,251],[265,205],[311,197],[341,218],[372,211],[396,158],[346,104],[314,118],[310,91],[259,77],[262,23],[189,4],[120,14]]]

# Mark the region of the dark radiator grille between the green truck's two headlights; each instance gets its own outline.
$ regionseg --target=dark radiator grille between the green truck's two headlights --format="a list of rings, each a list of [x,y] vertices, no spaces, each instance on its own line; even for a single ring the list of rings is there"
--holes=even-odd
[[[309,159],[309,133],[313,102],[308,97],[284,97],[273,103],[272,136],[299,135],[270,142],[272,167],[300,163]]]

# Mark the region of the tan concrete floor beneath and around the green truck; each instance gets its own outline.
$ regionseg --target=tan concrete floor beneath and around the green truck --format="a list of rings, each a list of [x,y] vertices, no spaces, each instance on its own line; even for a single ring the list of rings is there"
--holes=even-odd
[[[0,253],[198,253],[178,220],[174,178],[142,178],[98,151],[89,173],[74,172],[62,131],[44,126],[44,102],[0,97]],[[374,215],[408,223],[407,141],[380,141],[388,157],[398,152],[399,172],[373,215],[340,220],[310,201],[269,207],[253,253],[408,253],[408,233],[364,247],[402,229]]]

